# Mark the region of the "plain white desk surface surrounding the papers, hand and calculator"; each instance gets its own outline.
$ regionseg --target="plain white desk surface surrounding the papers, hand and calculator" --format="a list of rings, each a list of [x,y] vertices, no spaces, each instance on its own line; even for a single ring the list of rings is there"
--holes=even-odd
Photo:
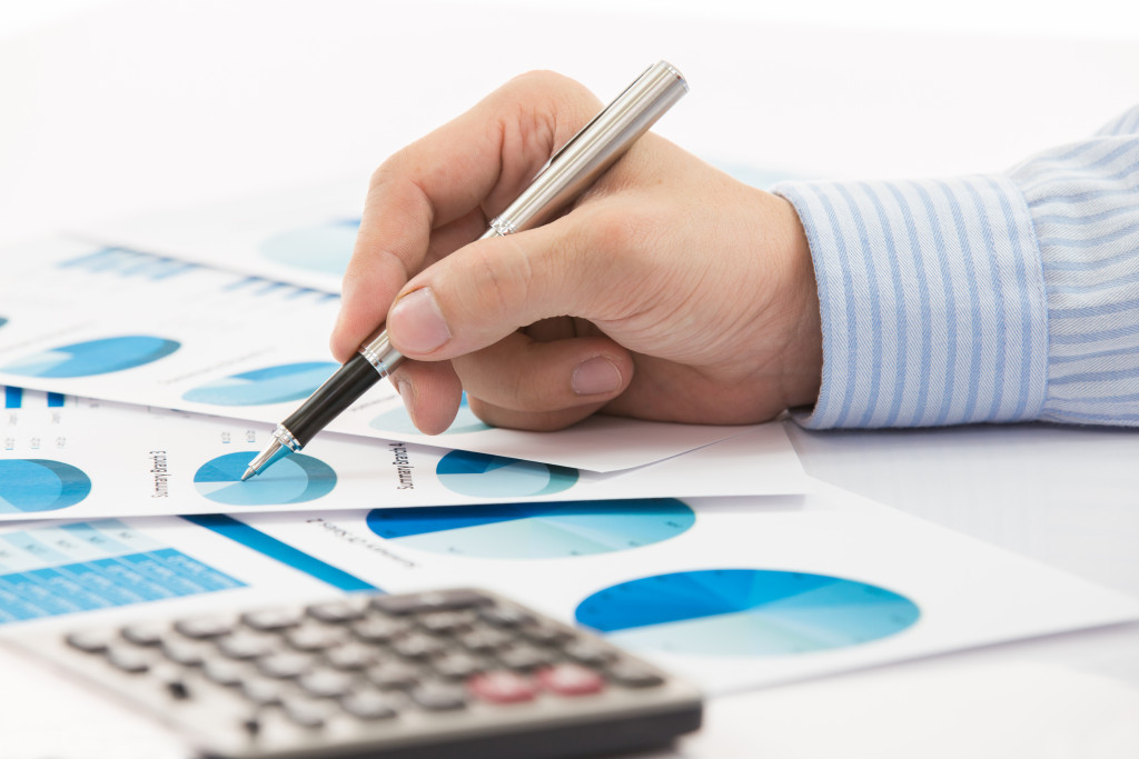
[[[5,11],[0,242],[329,176],[358,176],[362,197],[387,152],[535,67],[605,98],[669,58],[693,94],[659,132],[715,163],[831,178],[999,171],[1139,92],[1139,10],[1122,0],[925,16],[885,0],[689,5],[74,0],[8,26]],[[1139,595],[1134,432],[792,436],[820,479]],[[2,667],[9,683],[38,676]],[[16,759],[179,754],[125,717],[76,718],[68,735],[55,715],[81,701],[0,688],[3,743],[23,741]],[[1134,757],[1134,715],[1139,625],[1126,625],[724,699],[679,751]],[[120,744],[97,749],[108,735]]]

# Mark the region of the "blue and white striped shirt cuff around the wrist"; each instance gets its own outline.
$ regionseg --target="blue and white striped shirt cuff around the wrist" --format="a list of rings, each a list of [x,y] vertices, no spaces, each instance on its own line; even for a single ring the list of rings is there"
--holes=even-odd
[[[787,182],[822,319],[822,385],[805,427],[1035,419],[1048,312],[1025,200],[1000,175]]]

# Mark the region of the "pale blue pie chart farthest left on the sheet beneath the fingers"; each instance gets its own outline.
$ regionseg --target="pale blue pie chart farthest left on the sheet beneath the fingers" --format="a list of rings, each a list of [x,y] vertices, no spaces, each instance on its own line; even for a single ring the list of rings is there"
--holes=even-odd
[[[150,335],[73,343],[15,361],[3,371],[23,377],[90,377],[133,369],[169,356],[180,344]]]

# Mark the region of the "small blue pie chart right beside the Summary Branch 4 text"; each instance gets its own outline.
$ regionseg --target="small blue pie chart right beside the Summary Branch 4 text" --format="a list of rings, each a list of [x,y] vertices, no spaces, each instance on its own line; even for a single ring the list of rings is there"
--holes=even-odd
[[[435,467],[449,490],[476,498],[527,498],[562,493],[577,481],[577,470],[521,459],[451,451]]]

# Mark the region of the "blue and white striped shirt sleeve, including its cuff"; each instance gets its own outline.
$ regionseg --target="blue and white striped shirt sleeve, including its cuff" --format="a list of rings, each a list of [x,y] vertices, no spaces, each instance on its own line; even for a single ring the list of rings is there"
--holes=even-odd
[[[772,190],[819,287],[805,427],[1139,426],[1139,106],[1002,174]]]

